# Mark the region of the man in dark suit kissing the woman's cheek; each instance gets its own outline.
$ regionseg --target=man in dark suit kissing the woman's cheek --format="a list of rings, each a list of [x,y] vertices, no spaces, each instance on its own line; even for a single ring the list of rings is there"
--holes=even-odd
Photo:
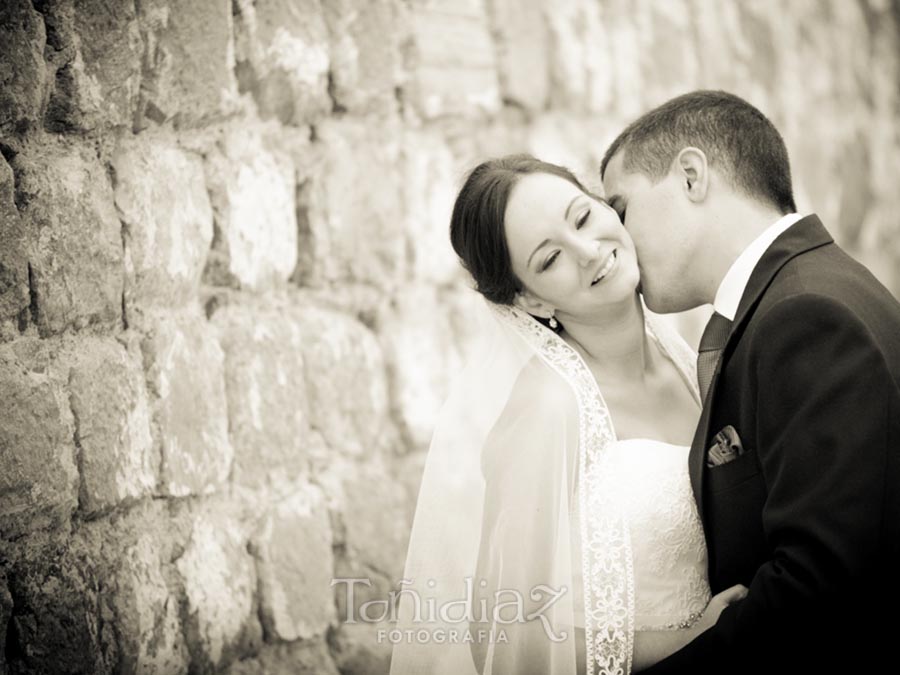
[[[690,476],[713,593],[749,587],[645,672],[896,669],[900,304],[795,213],[781,136],[736,96],[645,114],[601,175],[650,309],[715,309]]]

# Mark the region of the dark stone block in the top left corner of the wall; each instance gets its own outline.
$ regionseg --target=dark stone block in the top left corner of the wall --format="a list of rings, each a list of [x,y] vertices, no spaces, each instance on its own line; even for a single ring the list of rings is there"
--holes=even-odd
[[[40,118],[47,84],[44,21],[29,0],[0,5],[0,135]]]

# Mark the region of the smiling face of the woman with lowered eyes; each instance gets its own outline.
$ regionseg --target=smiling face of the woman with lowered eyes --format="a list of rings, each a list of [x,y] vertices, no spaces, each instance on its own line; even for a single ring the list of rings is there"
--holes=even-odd
[[[590,317],[634,297],[634,244],[616,212],[564,178],[523,176],[506,205],[513,272],[525,286],[517,304],[538,316]]]

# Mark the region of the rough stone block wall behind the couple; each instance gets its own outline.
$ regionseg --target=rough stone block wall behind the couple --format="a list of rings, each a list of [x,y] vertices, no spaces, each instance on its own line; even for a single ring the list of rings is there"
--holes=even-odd
[[[0,672],[379,673],[466,168],[682,91],[900,292],[894,0],[3,0]]]

